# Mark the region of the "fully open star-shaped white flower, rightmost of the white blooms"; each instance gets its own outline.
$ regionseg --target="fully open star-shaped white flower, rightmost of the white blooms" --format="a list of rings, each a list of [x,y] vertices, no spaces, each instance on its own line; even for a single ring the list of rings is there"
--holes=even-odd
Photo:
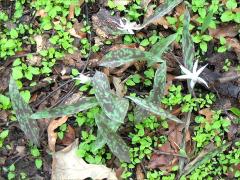
[[[176,79],[189,79],[190,81],[190,87],[193,89],[196,83],[201,83],[204,84],[205,86],[208,87],[207,82],[199,77],[199,75],[203,72],[204,68],[207,67],[207,64],[203,67],[201,67],[200,69],[197,70],[197,66],[198,66],[198,61],[195,61],[194,65],[193,65],[193,72],[189,71],[187,68],[185,68],[184,66],[180,65],[180,68],[182,70],[182,72],[184,73],[184,75],[181,76],[177,76],[175,77]]]

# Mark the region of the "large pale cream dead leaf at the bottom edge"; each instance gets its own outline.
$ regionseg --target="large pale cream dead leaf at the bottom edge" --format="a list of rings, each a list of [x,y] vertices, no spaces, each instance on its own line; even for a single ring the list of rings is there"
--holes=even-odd
[[[67,148],[53,154],[52,180],[62,179],[111,179],[117,180],[112,169],[104,165],[87,164],[78,157],[78,139]]]

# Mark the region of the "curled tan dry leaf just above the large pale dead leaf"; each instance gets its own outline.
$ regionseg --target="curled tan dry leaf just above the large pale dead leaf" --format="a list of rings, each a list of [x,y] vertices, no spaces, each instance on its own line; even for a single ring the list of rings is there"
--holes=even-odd
[[[57,141],[57,133],[54,132],[55,129],[60,127],[62,124],[64,124],[68,120],[67,116],[63,116],[62,118],[59,118],[58,120],[52,120],[48,126],[48,148],[55,152],[55,145]]]

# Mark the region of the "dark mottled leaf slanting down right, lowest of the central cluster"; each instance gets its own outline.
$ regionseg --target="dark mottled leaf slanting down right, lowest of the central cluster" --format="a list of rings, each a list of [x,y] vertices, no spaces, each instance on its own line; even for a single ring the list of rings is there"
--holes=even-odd
[[[109,128],[104,121],[99,121],[99,119],[101,118],[96,118],[98,130],[112,153],[121,161],[130,162],[129,147],[116,132]]]

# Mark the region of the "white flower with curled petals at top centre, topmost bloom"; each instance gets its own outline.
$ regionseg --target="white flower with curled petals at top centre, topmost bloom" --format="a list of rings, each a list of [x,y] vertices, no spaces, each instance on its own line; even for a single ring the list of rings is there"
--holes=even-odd
[[[136,22],[130,22],[126,18],[121,18],[119,22],[114,21],[118,25],[118,29],[122,31],[127,31],[129,34],[134,34],[133,30],[142,29]]]

